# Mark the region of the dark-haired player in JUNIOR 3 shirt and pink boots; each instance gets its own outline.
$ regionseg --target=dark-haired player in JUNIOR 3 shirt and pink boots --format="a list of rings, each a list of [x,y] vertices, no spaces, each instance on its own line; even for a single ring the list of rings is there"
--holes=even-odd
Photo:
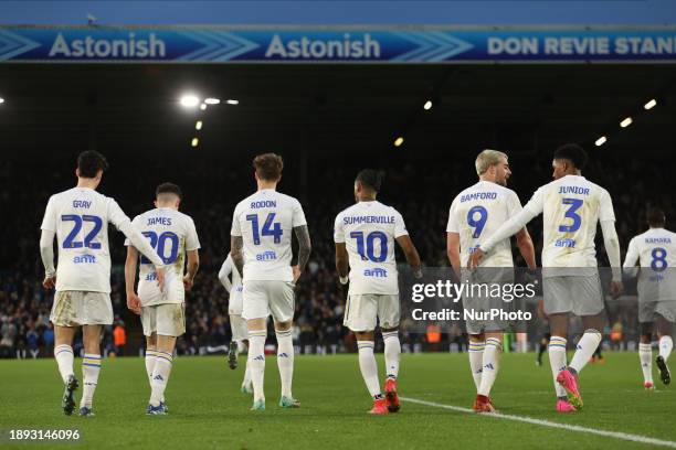
[[[582,407],[578,376],[601,343],[601,330],[605,324],[594,246],[598,223],[601,223],[605,251],[613,268],[611,293],[619,296],[623,289],[613,204],[606,190],[582,176],[585,163],[587,153],[580,146],[571,143],[558,148],[552,162],[554,181],[538,189],[524,210],[482,243],[469,258],[469,266],[476,267],[496,244],[542,214],[542,291],[551,330],[549,361],[559,413]],[[581,317],[584,334],[567,365],[571,312]]]

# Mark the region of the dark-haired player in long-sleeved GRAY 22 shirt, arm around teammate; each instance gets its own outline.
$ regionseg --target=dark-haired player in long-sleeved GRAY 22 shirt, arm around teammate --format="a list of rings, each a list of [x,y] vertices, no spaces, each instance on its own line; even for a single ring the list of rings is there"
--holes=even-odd
[[[45,289],[56,288],[50,320],[54,324],[54,357],[65,384],[62,407],[66,415],[75,409],[74,392],[78,381],[73,372],[73,338],[82,326],[84,389],[80,415],[92,416],[94,392],[101,372],[102,325],[113,323],[110,304],[110,251],[108,224],[113,224],[138,246],[151,261],[156,283],[162,288],[165,267],[140,232],[117,203],[96,192],[108,163],[103,154],[85,151],[77,158],[77,185],[50,197],[42,219],[40,254],[44,265]],[[54,236],[59,246],[59,267],[54,269]]]

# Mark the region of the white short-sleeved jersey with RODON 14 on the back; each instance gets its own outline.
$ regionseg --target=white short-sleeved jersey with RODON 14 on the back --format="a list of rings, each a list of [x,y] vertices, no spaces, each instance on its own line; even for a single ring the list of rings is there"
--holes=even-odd
[[[307,225],[300,202],[272,189],[241,201],[232,216],[232,236],[244,243],[243,282],[293,281],[292,233]]]

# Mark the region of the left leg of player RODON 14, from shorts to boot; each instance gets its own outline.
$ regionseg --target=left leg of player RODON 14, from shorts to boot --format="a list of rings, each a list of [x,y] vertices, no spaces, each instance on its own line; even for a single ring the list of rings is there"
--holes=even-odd
[[[252,410],[265,410],[265,393],[263,390],[265,373],[265,339],[267,338],[267,315],[270,314],[266,281],[246,281],[242,291],[242,317],[246,319],[249,329],[249,357],[246,364],[251,371],[254,390]]]

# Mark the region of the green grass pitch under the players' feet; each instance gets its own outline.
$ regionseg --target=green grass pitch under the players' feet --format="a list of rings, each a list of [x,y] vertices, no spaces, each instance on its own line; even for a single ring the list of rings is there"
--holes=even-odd
[[[266,366],[267,410],[254,414],[251,397],[239,392],[242,367],[231,371],[224,357],[179,357],[167,390],[170,415],[147,417],[144,361],[105,360],[96,417],[84,419],[63,415],[54,361],[0,361],[0,429],[78,428],[85,447],[97,449],[649,447],[405,401],[397,415],[370,417],[356,355],[297,356],[294,395],[303,407],[281,409],[275,358],[268,356]],[[80,360],[76,367],[78,373]],[[636,353],[606,353],[604,365],[590,364],[582,374],[585,409],[561,416],[553,410],[548,362],[536,367],[532,354],[508,354],[493,398],[505,414],[676,441],[676,386],[657,383],[655,392],[643,389]],[[464,354],[404,355],[399,388],[403,396],[462,407],[471,407],[475,395]]]

